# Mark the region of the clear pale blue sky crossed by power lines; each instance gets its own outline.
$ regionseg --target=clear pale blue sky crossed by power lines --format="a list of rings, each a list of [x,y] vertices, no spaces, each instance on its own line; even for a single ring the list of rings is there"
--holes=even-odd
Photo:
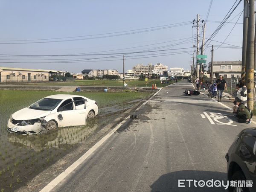
[[[234,3],[239,0],[1,0],[0,66],[122,73],[124,55],[125,72],[141,63],[190,70],[197,14],[200,46],[204,23],[205,41],[212,39],[204,46],[207,63],[212,45],[214,61],[239,61],[243,1],[211,37]]]

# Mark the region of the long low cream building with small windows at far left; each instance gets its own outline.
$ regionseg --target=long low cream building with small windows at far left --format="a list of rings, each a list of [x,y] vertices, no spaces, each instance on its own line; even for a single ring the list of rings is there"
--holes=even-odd
[[[49,81],[50,72],[53,73],[50,70],[0,67],[0,82]]]

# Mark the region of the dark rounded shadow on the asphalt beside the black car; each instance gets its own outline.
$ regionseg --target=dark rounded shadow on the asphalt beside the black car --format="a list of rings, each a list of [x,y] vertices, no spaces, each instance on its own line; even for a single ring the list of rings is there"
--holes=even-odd
[[[158,178],[151,186],[151,192],[208,192],[208,191],[226,191],[224,187],[195,187],[194,183],[191,182],[191,187],[189,187],[189,182],[184,181],[186,187],[178,187],[179,179],[193,179],[193,180],[224,180],[224,185],[227,185],[227,174],[222,172],[209,172],[209,171],[192,171],[184,170],[178,172],[171,172],[165,175],[162,175]],[[196,184],[198,186],[198,184]]]

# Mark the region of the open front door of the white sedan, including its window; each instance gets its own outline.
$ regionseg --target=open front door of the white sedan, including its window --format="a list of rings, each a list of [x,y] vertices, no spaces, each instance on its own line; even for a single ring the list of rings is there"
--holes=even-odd
[[[59,127],[85,125],[84,113],[74,110],[72,99],[65,100],[57,110]]]

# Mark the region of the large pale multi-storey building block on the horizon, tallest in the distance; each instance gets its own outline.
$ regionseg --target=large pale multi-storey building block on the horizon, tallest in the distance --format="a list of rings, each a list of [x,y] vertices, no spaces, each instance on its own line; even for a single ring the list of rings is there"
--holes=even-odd
[[[133,67],[134,72],[143,73],[143,74],[156,73],[160,75],[160,74],[163,74],[163,71],[167,71],[167,70],[168,70],[168,66],[163,65],[161,63],[158,63],[156,65],[148,64],[146,66],[144,66],[143,64],[137,64]]]

